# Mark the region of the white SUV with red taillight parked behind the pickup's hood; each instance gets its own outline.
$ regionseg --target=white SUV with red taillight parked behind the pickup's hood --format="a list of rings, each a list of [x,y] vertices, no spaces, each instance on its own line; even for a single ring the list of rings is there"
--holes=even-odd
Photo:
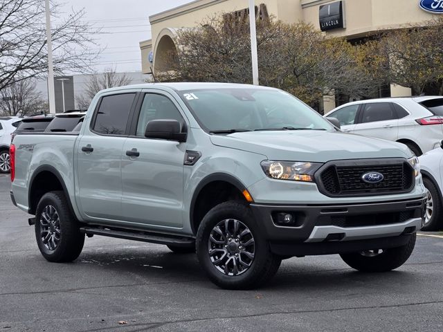
[[[443,138],[442,96],[360,100],[325,117],[338,119],[342,131],[404,143],[416,156],[439,147]]]

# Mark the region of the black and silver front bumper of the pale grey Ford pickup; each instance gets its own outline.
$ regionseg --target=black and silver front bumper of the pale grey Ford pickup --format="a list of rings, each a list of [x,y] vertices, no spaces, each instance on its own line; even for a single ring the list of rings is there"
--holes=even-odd
[[[264,237],[271,243],[271,248],[276,245],[329,243],[331,250],[323,250],[325,253],[338,252],[339,243],[347,243],[347,246],[354,243],[358,247],[359,241],[370,243],[369,240],[372,240],[374,243],[377,239],[413,234],[422,227],[424,207],[425,200],[422,197],[337,205],[251,204],[255,220]],[[292,214],[295,223],[276,223],[275,214],[278,213]]]

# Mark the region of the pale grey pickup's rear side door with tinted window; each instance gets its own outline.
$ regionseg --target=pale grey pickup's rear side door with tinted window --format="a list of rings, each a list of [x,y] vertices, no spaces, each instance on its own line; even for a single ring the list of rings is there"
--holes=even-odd
[[[121,156],[137,93],[104,95],[79,136],[77,179],[80,210],[89,221],[124,219]]]

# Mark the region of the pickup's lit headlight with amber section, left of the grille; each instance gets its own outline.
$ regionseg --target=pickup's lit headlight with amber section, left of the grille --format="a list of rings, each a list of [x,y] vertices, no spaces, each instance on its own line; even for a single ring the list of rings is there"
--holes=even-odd
[[[314,182],[314,173],[322,164],[303,161],[263,160],[261,165],[264,173],[270,178]]]

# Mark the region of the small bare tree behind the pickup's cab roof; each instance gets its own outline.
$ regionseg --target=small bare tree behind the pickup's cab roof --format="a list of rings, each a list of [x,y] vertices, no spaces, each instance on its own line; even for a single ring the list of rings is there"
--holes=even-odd
[[[98,91],[114,86],[127,85],[130,82],[131,79],[125,73],[117,73],[115,68],[105,68],[105,73],[90,75],[89,80],[85,83],[84,93],[75,96],[75,100],[80,109],[87,109]]]

